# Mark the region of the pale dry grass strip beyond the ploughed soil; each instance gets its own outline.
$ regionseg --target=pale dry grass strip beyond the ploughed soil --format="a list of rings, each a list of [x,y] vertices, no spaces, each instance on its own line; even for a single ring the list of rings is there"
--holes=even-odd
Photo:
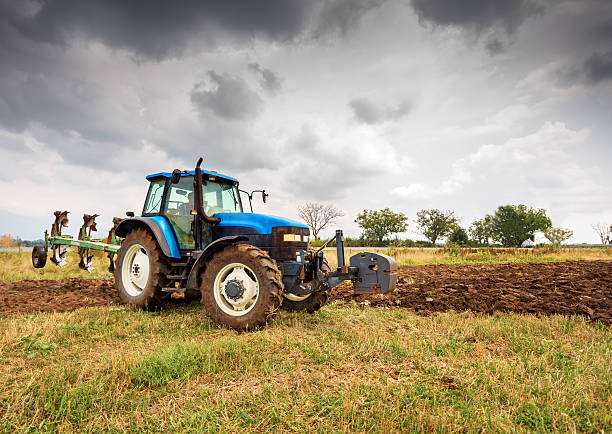
[[[346,259],[367,248],[347,248]],[[391,248],[381,250],[394,257],[398,265],[427,265],[427,264],[488,264],[488,263],[525,263],[525,262],[555,262],[569,260],[612,260],[612,248],[565,248],[558,252],[550,252],[546,248],[538,249],[405,249]],[[336,251],[326,251],[325,256],[332,266],[336,266]],[[15,282],[18,280],[40,279],[66,279],[68,277],[81,278],[110,278],[108,272],[108,258],[105,254],[96,252],[94,258],[94,271],[90,274],[81,270],[77,264],[79,256],[76,252],[67,253],[68,265],[64,268],[56,267],[47,260],[47,266],[42,269],[32,267],[30,252],[0,252],[0,281]]]

